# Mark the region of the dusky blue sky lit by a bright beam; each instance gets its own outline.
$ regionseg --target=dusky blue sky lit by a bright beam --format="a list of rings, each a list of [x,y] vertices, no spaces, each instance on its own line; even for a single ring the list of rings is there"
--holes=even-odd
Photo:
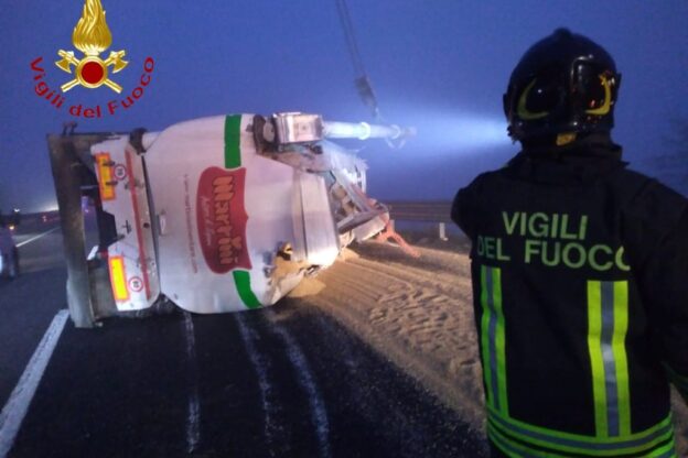
[[[329,120],[372,121],[355,77],[335,0],[101,0],[110,51],[129,65],[106,87],[76,87],[55,109],[34,90],[31,63],[43,57],[51,89],[71,79],[57,51],[76,51],[72,30],[83,0],[0,0],[0,208],[54,207],[45,135],[62,123],[78,132],[162,130],[223,113],[307,111]],[[688,122],[688,1],[348,0],[361,54],[385,118],[416,126],[401,150],[362,143],[369,194],[380,199],[451,199],[477,173],[518,151],[506,134],[502,94],[513,67],[559,26],[588,35],[623,74],[614,139],[636,170],[657,168],[679,146],[674,122]],[[80,52],[76,52],[80,55]],[[74,119],[72,105],[107,107],[137,87],[143,96],[114,116]],[[688,161],[688,157],[686,157]]]

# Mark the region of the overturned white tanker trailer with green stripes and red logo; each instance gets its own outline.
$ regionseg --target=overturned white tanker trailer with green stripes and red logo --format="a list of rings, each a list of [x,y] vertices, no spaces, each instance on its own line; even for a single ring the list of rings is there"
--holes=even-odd
[[[202,314],[275,304],[388,220],[365,163],[326,139],[408,133],[278,113],[49,135],[75,325],[168,301]]]

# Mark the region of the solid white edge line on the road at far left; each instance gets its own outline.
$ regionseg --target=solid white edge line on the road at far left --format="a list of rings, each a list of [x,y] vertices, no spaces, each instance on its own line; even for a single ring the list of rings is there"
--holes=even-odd
[[[6,458],[14,444],[17,433],[19,433],[19,428],[29,411],[31,400],[43,378],[45,367],[53,356],[53,350],[60,340],[68,316],[69,312],[67,310],[57,312],[53,323],[51,323],[33,352],[31,360],[29,360],[24,373],[22,373],[17,386],[14,386],[14,391],[10,394],[10,399],[2,407],[2,413],[0,413],[0,458]]]

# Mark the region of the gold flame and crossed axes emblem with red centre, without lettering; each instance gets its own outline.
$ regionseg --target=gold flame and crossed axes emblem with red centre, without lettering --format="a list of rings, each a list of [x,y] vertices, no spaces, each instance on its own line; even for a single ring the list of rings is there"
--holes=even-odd
[[[105,85],[120,94],[122,87],[109,78],[109,67],[112,67],[111,73],[121,72],[128,64],[123,61],[126,51],[110,51],[108,58],[105,61],[100,58],[100,53],[112,44],[112,34],[105,21],[105,10],[100,0],[86,0],[82,18],[72,33],[72,43],[85,56],[79,59],[74,56],[74,51],[57,52],[62,57],[55,63],[57,67],[69,74],[72,66],[76,67],[74,79],[62,85],[62,91],[66,92],[77,85],[89,89]]]

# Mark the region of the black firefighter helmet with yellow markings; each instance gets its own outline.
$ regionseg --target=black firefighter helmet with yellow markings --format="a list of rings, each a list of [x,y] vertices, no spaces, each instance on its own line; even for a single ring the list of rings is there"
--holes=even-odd
[[[556,139],[609,132],[621,74],[612,56],[590,39],[558,29],[520,58],[504,95],[514,140]]]

